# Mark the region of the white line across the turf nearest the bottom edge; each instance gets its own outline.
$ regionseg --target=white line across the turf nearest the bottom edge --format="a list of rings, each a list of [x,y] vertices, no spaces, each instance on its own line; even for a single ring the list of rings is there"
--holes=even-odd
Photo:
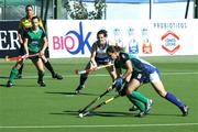
[[[198,123],[167,123],[167,124],[110,124],[110,125],[21,125],[21,127],[0,127],[0,129],[63,129],[63,128],[139,128],[139,127],[190,127]]]

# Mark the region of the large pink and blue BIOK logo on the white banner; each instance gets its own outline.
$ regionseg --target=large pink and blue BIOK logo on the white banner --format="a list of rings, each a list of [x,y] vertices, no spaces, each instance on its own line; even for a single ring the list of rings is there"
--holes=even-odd
[[[85,54],[85,45],[90,51],[91,46],[89,44],[89,37],[91,35],[91,32],[88,32],[84,36],[82,31],[82,23],[79,22],[79,33],[76,31],[68,31],[65,36],[53,36],[53,50],[66,50],[70,54],[78,54],[81,52],[81,54]],[[75,38],[78,41],[76,42]],[[74,47],[76,47],[74,50]]]

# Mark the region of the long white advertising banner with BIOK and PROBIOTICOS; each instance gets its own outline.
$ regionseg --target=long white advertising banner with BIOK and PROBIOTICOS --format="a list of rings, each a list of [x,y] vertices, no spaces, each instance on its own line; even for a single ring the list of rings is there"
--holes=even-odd
[[[89,57],[101,29],[134,55],[198,55],[198,20],[47,20],[50,57]]]

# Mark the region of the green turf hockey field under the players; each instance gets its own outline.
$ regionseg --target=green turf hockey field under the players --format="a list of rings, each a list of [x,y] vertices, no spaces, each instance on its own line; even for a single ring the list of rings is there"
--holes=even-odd
[[[75,69],[82,69],[88,59],[51,59],[63,80],[52,79],[46,70],[46,87],[36,84],[36,70],[26,61],[23,79],[13,88],[6,88],[14,63],[0,59],[0,132],[196,132],[198,131],[198,56],[145,57],[162,72],[166,89],[189,106],[188,117],[161,98],[145,85],[140,91],[152,98],[151,114],[136,118],[128,109],[125,97],[96,110],[95,114],[80,119],[78,110],[102,94],[111,84],[105,69],[92,73],[81,95],[74,95],[78,85]],[[114,91],[102,99],[111,98]],[[101,100],[102,100],[101,99]],[[94,105],[95,106],[95,105]]]

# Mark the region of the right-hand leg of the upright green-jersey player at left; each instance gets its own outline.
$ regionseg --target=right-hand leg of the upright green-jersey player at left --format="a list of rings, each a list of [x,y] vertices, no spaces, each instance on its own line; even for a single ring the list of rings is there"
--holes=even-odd
[[[32,62],[34,63],[36,69],[37,69],[37,84],[41,86],[41,87],[45,87],[45,82],[43,80],[43,77],[44,77],[44,65],[43,65],[43,62],[41,58],[32,58]]]

